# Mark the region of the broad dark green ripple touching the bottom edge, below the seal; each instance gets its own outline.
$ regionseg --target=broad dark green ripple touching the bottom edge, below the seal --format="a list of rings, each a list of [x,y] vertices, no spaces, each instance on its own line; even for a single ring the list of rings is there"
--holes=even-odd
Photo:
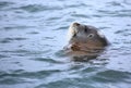
[[[86,80],[86,84],[85,84],[85,81],[79,78],[73,78],[73,79],[67,78],[63,80],[58,80],[58,81],[53,81],[49,84],[41,84],[35,88],[43,88],[43,87],[46,87],[46,88],[57,88],[57,87],[59,88],[95,88],[92,86],[92,84],[88,80]]]

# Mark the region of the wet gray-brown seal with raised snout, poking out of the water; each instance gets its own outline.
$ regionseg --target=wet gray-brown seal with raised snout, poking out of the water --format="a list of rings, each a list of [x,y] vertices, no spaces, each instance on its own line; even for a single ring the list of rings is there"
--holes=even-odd
[[[94,26],[72,23],[68,32],[66,53],[72,56],[94,58],[108,45],[106,37]]]

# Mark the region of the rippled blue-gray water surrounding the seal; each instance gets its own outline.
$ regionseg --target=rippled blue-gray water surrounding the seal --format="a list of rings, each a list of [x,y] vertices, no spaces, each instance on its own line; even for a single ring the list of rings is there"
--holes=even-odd
[[[72,22],[111,45],[71,61],[61,50]],[[0,0],[0,88],[131,88],[131,1]]]

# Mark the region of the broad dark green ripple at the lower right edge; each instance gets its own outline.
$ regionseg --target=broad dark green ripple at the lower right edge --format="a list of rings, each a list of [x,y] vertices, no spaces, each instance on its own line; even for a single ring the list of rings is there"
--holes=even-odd
[[[107,74],[108,73],[108,74]],[[128,72],[119,72],[119,71],[104,71],[97,73],[95,76],[93,76],[93,79],[98,83],[119,83],[124,81],[129,83],[131,73]]]

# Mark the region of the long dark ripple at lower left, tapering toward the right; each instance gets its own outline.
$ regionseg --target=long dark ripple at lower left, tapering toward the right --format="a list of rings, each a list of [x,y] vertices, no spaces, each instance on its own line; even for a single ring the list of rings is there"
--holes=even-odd
[[[38,71],[38,72],[25,72],[23,70],[17,70],[17,71],[12,71],[12,72],[1,72],[0,77],[24,77],[24,78],[45,78],[46,76],[53,74],[53,73],[59,73],[59,70],[47,70],[47,71]]]

